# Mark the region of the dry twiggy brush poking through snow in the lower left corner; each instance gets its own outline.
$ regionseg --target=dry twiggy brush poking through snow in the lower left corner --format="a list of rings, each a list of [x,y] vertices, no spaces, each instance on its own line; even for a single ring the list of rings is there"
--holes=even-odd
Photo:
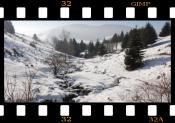
[[[35,94],[32,91],[32,81],[36,76],[36,71],[28,68],[26,71],[26,80],[22,82],[22,87],[18,87],[17,76],[13,77],[6,74],[6,82],[4,82],[4,98],[6,102],[32,102]]]

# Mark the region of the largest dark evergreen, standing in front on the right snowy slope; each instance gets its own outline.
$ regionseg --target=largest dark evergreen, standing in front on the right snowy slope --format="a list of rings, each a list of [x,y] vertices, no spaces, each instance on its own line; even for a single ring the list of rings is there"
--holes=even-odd
[[[126,70],[135,70],[143,64],[142,43],[137,29],[130,31],[128,48],[125,51]]]

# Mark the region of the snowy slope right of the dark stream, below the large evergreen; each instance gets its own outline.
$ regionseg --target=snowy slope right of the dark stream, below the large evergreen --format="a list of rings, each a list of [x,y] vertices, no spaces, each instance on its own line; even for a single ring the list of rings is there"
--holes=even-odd
[[[170,55],[159,55],[164,52],[171,53],[170,44],[169,36],[158,40],[145,50],[144,67],[132,72],[124,68],[124,52],[84,60],[82,68],[84,73],[80,72],[71,76],[78,78],[77,83],[81,82],[82,86],[93,88],[95,91],[88,96],[76,99],[82,102],[132,101],[131,95],[142,83],[139,80],[156,82],[160,73],[170,76]],[[85,77],[89,79],[85,80]],[[96,93],[96,89],[101,89],[100,93]]]

